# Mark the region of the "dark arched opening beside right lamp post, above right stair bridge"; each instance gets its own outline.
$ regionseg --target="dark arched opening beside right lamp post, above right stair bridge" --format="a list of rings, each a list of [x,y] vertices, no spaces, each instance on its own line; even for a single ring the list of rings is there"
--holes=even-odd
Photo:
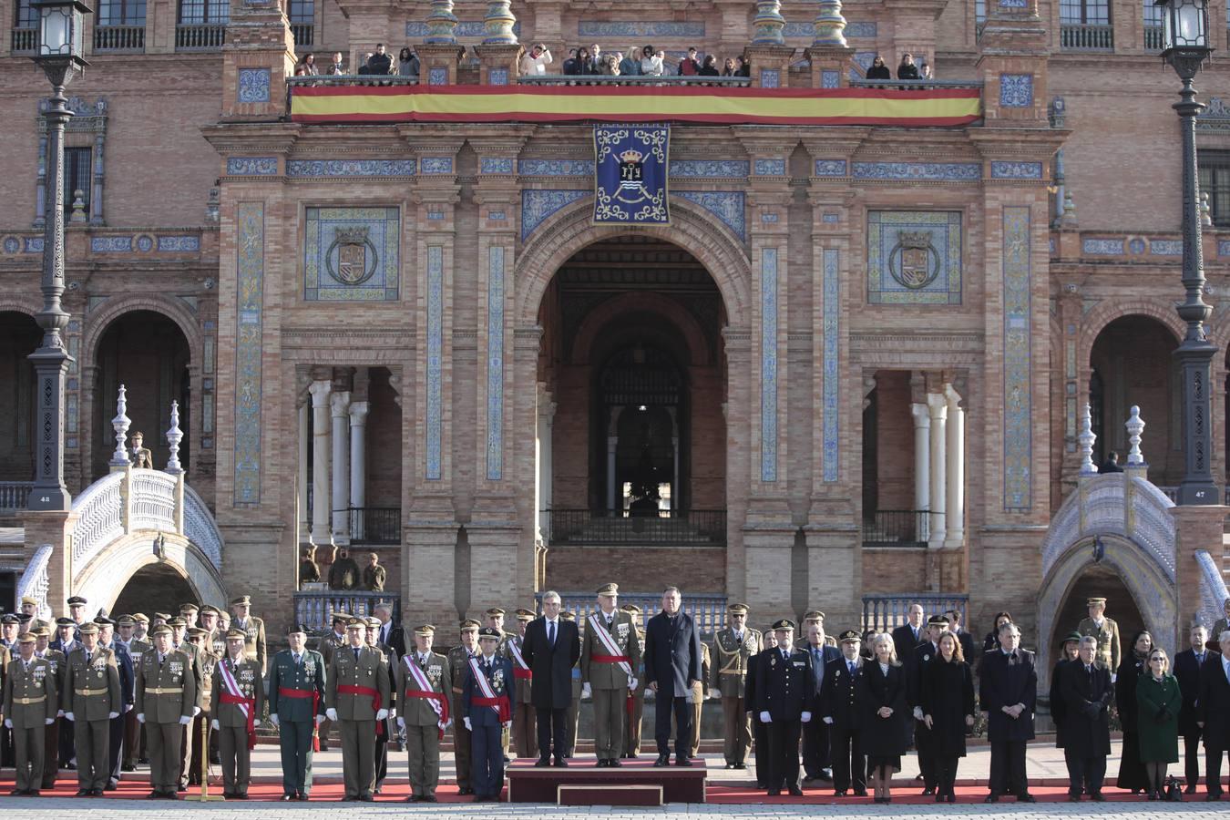
[[[1097,440],[1093,462],[1113,450],[1127,461],[1123,424],[1133,404],[1140,407],[1149,479],[1173,486],[1183,477],[1180,381],[1172,353],[1178,339],[1150,316],[1121,316],[1097,334],[1090,350],[1090,417]]]

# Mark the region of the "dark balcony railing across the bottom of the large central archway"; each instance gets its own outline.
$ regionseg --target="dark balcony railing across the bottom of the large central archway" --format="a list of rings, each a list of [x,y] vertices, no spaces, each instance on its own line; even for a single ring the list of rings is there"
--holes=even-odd
[[[726,543],[726,510],[546,510],[551,546],[673,546],[711,547]]]

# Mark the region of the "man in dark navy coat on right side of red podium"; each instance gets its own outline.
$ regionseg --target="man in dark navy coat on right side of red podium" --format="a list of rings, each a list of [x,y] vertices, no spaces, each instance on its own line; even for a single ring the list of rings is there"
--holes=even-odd
[[[662,611],[649,618],[645,629],[645,677],[653,690],[654,739],[658,759],[654,766],[670,765],[670,712],[675,723],[675,766],[691,766],[691,704],[692,686],[701,680],[700,628],[691,616],[679,607],[683,596],[678,586],[662,593]]]

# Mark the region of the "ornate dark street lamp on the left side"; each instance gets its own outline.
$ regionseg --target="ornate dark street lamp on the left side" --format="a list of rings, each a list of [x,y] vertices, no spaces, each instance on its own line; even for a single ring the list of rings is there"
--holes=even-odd
[[[38,48],[34,63],[52,81],[47,118],[47,195],[43,223],[43,310],[34,318],[43,328],[43,344],[30,355],[38,386],[38,440],[34,449],[32,510],[68,510],[70,498],[64,486],[64,376],[69,354],[62,333],[69,315],[60,307],[64,295],[64,125],[73,112],[64,87],[86,66],[82,45],[85,15],[90,6],[80,0],[34,0],[38,11]]]

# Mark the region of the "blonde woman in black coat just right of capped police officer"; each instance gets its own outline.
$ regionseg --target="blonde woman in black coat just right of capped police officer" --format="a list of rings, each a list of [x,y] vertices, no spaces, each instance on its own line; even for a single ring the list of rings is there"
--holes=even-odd
[[[877,634],[876,659],[863,664],[855,688],[859,714],[859,743],[867,755],[867,782],[876,789],[876,803],[892,803],[889,783],[902,771],[902,755],[909,747],[910,713],[905,706],[905,669],[897,660],[893,636]]]

